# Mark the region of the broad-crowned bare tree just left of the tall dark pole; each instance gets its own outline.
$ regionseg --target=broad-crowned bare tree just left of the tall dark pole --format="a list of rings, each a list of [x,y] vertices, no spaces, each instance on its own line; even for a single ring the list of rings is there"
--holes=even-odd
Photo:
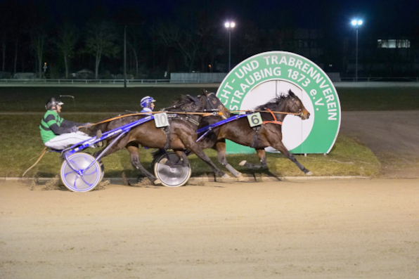
[[[98,79],[102,56],[115,57],[120,52],[119,46],[115,44],[118,39],[117,32],[115,26],[107,21],[88,22],[86,30],[86,51],[96,58],[95,79]]]

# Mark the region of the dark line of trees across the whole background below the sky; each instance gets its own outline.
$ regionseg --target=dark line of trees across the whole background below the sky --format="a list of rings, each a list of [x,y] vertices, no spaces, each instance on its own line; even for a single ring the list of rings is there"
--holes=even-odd
[[[181,9],[174,18],[150,19],[134,8],[111,14],[96,6],[84,21],[65,15],[54,18],[45,2],[6,1],[0,3],[0,71],[36,72],[42,78],[46,66],[49,77],[68,79],[72,72],[87,68],[96,79],[111,79],[124,72],[125,45],[127,71],[136,79],[169,79],[170,72],[226,72],[228,30],[224,19],[217,13],[188,9]],[[252,20],[238,22],[231,32],[232,65],[264,51],[299,53],[307,44],[296,36],[296,22],[287,11],[277,12],[269,22],[268,27]],[[333,26],[325,20],[316,27],[323,35],[308,41],[308,46],[322,49],[315,63],[344,74],[353,64],[354,34]],[[404,59],[415,71],[411,57],[417,55],[417,41],[412,41],[412,50],[401,59],[397,54],[401,51],[389,56],[387,50],[378,49],[374,36],[373,31],[361,33],[359,63],[367,63],[370,69],[374,63],[388,63],[388,74],[394,75],[395,63]],[[368,65],[362,69],[368,70]]]

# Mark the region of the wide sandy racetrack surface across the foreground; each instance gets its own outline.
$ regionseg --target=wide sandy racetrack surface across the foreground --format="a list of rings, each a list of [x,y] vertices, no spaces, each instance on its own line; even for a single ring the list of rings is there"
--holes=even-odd
[[[419,180],[0,182],[0,278],[419,278]]]

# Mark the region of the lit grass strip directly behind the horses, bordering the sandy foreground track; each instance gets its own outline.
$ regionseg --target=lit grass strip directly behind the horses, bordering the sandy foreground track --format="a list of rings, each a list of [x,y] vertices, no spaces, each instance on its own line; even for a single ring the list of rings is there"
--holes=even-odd
[[[114,114],[80,114],[63,113],[65,119],[76,122],[96,122],[107,116]],[[27,114],[0,115],[0,177],[20,177],[23,172],[32,166],[44,145],[39,136],[39,121],[43,112],[32,112]],[[141,148],[141,162],[150,172],[153,157],[151,152]],[[86,152],[93,153],[94,149],[88,148]],[[217,153],[214,150],[205,150],[211,160],[221,169],[226,171],[217,162]],[[315,176],[375,176],[380,170],[380,162],[377,157],[365,146],[361,145],[352,138],[338,136],[335,146],[329,155],[296,155],[297,160],[304,167],[307,167]],[[189,157],[193,170],[193,176],[212,174],[212,170],[195,155]],[[238,171],[246,176],[254,175],[254,171],[249,171],[245,167],[238,165],[242,160],[257,163],[257,155],[228,155],[228,162]],[[267,157],[269,171],[276,176],[302,176],[294,163],[281,154],[268,154]],[[103,158],[105,166],[105,177],[121,177],[125,173],[127,177],[138,176],[137,171],[131,166],[129,153],[127,150],[120,150],[112,155]],[[60,157],[58,153],[46,153],[36,167],[31,169],[27,177],[54,177],[60,171]],[[261,171],[257,171],[261,173]],[[269,175],[268,171],[262,171],[262,175]]]

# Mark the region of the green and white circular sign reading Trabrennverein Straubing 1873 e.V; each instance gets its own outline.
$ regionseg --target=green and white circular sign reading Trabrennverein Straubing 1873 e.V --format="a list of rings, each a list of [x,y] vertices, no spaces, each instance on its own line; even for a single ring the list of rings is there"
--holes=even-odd
[[[217,97],[228,110],[252,110],[289,90],[310,118],[285,117],[285,147],[291,153],[329,153],[340,129],[340,102],[328,75],[311,60],[285,51],[259,53],[228,73]]]

